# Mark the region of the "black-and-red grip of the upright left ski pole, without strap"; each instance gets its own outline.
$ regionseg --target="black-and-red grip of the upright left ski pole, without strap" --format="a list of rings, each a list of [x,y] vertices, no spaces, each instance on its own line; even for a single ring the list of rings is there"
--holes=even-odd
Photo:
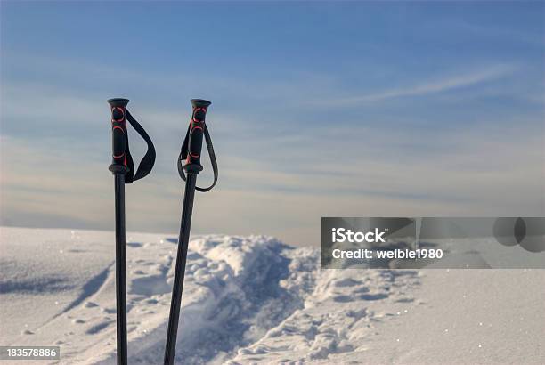
[[[126,174],[126,104],[128,99],[110,99],[111,110],[111,149],[112,161],[110,171],[112,174]]]

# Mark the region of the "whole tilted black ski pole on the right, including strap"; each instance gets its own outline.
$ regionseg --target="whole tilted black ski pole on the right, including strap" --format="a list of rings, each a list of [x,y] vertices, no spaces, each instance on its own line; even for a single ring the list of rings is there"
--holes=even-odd
[[[182,222],[178,237],[178,253],[176,255],[175,280],[172,288],[172,299],[170,304],[170,315],[168,317],[167,345],[165,348],[165,365],[173,365],[175,361],[176,337],[178,334],[178,322],[180,320],[180,307],[182,306],[183,276],[191,230],[191,214],[193,210],[193,199],[195,190],[210,191],[217,182],[217,163],[212,140],[208,133],[205,118],[210,101],[202,99],[191,99],[193,107],[190,126],[185,135],[182,151],[178,158],[178,174],[185,181],[185,192],[183,195]],[[207,142],[208,155],[212,162],[214,171],[214,183],[207,188],[196,186],[197,175],[202,171],[200,165],[200,152],[202,150],[203,136]],[[187,177],[185,176],[187,173]]]

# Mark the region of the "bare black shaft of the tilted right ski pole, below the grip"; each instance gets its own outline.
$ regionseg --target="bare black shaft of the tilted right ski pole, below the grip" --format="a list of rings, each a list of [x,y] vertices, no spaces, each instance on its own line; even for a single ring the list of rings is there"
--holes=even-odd
[[[180,236],[178,238],[178,254],[176,256],[175,280],[172,288],[172,301],[170,303],[170,316],[168,318],[167,346],[165,348],[165,365],[173,365],[175,360],[176,337],[178,334],[178,321],[180,320],[180,307],[182,306],[183,275],[191,230],[191,214],[193,199],[195,198],[195,183],[197,174],[189,172],[185,183],[183,196],[182,223],[180,224]]]

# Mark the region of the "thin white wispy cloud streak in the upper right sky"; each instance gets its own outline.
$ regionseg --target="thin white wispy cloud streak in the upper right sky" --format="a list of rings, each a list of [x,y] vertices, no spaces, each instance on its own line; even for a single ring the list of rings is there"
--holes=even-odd
[[[473,72],[456,76],[437,78],[410,86],[399,86],[378,93],[365,93],[342,99],[331,99],[329,101],[325,101],[325,105],[355,105],[373,101],[402,98],[405,96],[422,96],[434,93],[444,93],[461,87],[478,85],[484,82],[499,79],[501,77],[506,77],[515,71],[515,69],[516,67],[513,65],[494,65],[486,69],[478,69]],[[321,102],[321,105],[324,105],[324,102]]]

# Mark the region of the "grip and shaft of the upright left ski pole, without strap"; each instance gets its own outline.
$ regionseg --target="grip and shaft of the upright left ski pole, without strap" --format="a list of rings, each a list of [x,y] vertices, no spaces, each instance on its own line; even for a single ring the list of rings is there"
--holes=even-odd
[[[110,99],[112,163],[116,199],[116,309],[118,365],[127,364],[126,351],[126,256],[125,256],[125,174],[126,167],[126,99]]]

